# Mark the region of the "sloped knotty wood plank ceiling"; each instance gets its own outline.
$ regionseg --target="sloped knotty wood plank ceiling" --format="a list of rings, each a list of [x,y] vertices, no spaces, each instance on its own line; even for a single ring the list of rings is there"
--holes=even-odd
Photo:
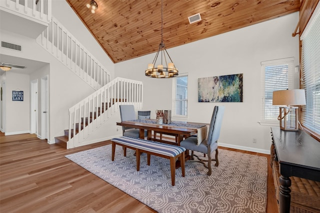
[[[113,62],[157,51],[161,0],[95,0],[95,13],[86,7],[90,0],[66,1]],[[295,12],[299,7],[300,0],[163,0],[163,42],[171,48]],[[196,13],[202,20],[189,24],[188,16]]]

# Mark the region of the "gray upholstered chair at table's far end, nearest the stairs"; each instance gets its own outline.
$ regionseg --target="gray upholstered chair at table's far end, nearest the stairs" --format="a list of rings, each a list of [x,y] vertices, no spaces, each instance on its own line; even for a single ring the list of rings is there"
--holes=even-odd
[[[133,105],[119,105],[121,121],[135,120],[135,111]],[[122,135],[130,137],[139,137],[139,129],[132,127],[122,126]],[[144,136],[147,135],[147,131],[144,130]]]

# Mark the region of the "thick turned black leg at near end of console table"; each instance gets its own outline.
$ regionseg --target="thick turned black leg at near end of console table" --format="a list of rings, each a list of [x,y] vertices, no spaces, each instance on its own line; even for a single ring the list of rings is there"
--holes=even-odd
[[[280,213],[290,212],[290,199],[291,199],[291,180],[289,177],[280,175],[280,191],[279,191],[279,210]]]

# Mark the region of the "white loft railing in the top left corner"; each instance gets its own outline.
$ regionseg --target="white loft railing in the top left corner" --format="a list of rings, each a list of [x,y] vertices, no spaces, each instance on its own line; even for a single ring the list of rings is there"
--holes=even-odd
[[[51,0],[0,0],[0,6],[38,21],[51,21]]]

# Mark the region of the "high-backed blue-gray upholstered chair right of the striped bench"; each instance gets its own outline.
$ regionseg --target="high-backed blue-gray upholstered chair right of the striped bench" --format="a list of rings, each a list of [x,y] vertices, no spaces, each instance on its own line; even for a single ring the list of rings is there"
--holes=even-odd
[[[224,113],[224,106],[214,106],[213,113],[210,121],[209,131],[205,139],[197,145],[197,137],[188,137],[180,142],[180,146],[191,150],[191,159],[195,156],[198,160],[196,162],[201,162],[205,168],[208,169],[207,174],[211,175],[211,161],[215,161],[215,166],[219,165],[218,160],[218,138],[220,135],[221,122]],[[215,150],[215,158],[211,159],[211,152]],[[207,159],[200,158],[194,151],[198,151],[207,154]],[[207,162],[207,164],[205,163]]]

